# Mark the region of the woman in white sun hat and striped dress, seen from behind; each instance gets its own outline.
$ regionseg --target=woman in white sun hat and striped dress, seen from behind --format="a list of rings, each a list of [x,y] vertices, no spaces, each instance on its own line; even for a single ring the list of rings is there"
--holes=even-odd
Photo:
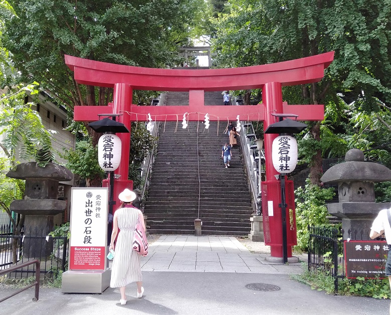
[[[118,233],[117,242],[115,244],[115,254],[113,265],[111,268],[111,287],[119,287],[121,292],[121,305],[126,304],[126,285],[132,282],[137,283],[137,298],[141,298],[144,293],[142,287],[142,274],[140,267],[140,255],[133,250],[133,233],[137,224],[138,218],[145,230],[143,215],[140,210],[132,206],[132,201],[136,198],[136,194],[125,189],[118,195],[122,204],[114,213],[113,232],[111,233],[111,242],[109,250],[114,248],[114,240]]]

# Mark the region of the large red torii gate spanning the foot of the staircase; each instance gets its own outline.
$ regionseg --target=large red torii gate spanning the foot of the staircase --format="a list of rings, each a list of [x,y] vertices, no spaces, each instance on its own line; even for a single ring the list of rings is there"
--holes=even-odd
[[[114,89],[113,103],[109,106],[76,106],[75,121],[96,121],[98,114],[123,114],[117,121],[130,130],[130,123],[146,120],[150,113],[154,121],[176,121],[184,113],[188,120],[203,120],[210,115],[210,121],[242,120],[264,121],[264,130],[276,122],[272,114],[294,114],[301,121],[324,119],[323,105],[287,105],[282,101],[282,87],[319,82],[334,58],[334,52],[311,56],[276,64],[261,66],[208,69],[176,70],[123,66],[92,61],[65,55],[65,63],[74,72],[80,84],[109,87]],[[205,91],[262,89],[262,102],[256,106],[205,106]],[[188,106],[137,106],[132,104],[133,90],[188,91]],[[121,182],[128,181],[130,134],[119,133],[122,141],[122,157],[117,173]],[[266,178],[278,182],[278,172],[272,163],[272,143],[276,134],[265,134]],[[120,189],[118,185],[114,187]],[[123,185],[121,186],[123,187]],[[270,187],[271,189],[277,189]],[[122,188],[121,188],[122,189]],[[269,192],[270,190],[269,189]],[[114,191],[117,196],[119,191]],[[279,194],[276,191],[276,194]],[[277,213],[278,207],[276,207]],[[288,216],[289,217],[289,216]],[[281,230],[281,228],[280,228]],[[282,243],[281,243],[282,244]],[[271,243],[272,256],[282,257],[282,245]],[[291,252],[288,252],[291,256]]]

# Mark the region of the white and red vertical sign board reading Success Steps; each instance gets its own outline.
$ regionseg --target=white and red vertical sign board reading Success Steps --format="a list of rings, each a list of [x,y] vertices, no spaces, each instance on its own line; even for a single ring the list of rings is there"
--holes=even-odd
[[[69,270],[105,270],[108,188],[72,188]]]

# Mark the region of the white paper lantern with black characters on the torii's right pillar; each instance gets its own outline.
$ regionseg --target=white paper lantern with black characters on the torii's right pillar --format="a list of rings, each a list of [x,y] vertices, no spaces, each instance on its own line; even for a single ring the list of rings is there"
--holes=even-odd
[[[297,142],[291,136],[278,136],[272,145],[273,166],[277,172],[292,172],[297,164]]]

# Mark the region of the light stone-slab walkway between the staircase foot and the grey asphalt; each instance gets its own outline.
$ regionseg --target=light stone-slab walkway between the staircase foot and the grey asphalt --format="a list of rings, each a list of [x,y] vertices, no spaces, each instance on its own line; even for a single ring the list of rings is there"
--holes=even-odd
[[[302,263],[265,260],[268,254],[251,253],[236,237],[162,235],[141,260],[142,271],[237,272],[292,274]],[[303,257],[302,257],[303,258]]]

